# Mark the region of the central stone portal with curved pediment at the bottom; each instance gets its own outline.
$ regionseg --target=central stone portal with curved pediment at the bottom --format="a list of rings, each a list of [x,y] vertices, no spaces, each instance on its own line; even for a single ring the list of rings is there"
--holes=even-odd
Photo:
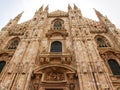
[[[68,66],[51,65],[34,70],[32,90],[79,90],[75,70]]]

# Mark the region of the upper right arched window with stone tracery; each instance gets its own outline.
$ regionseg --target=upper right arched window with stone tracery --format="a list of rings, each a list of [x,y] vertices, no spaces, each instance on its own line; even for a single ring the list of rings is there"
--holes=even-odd
[[[108,40],[102,36],[96,37],[96,43],[97,43],[98,47],[110,47]]]

